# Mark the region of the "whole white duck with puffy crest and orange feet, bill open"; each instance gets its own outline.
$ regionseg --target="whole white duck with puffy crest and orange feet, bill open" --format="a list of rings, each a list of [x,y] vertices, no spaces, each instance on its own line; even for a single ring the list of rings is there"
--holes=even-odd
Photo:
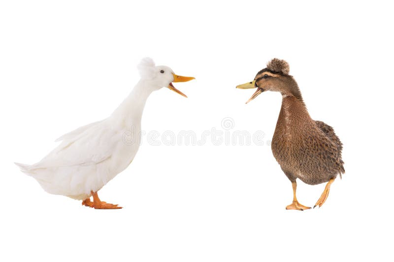
[[[97,192],[126,169],[137,153],[146,99],[162,87],[186,97],[171,82],[195,79],[178,76],[168,66],[155,66],[150,58],[137,67],[140,81],[108,118],[59,137],[56,141],[63,142],[36,164],[15,164],[50,194],[83,200],[83,205],[96,209],[122,208],[100,201]]]

